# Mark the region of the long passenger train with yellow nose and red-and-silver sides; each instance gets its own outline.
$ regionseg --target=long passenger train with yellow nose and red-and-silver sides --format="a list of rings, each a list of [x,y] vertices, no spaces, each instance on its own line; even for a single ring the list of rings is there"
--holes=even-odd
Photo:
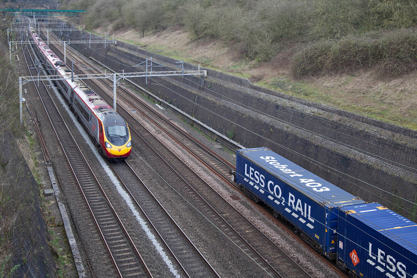
[[[99,95],[81,80],[71,80],[71,70],[46,43],[30,29],[34,49],[51,75],[61,75],[56,80],[70,109],[94,139],[99,152],[108,159],[126,159],[132,150],[131,134],[126,121]]]

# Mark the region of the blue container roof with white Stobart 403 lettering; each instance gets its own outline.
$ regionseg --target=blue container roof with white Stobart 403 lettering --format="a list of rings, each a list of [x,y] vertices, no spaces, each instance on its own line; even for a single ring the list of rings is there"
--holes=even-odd
[[[266,169],[269,173],[273,174],[289,186],[295,188],[297,191],[308,196],[311,200],[319,203],[328,208],[337,208],[355,204],[363,204],[365,201],[351,195],[345,190],[337,187],[336,185],[320,178],[319,176],[309,172],[294,162],[280,156],[269,148],[248,148],[240,149],[238,154],[246,157],[252,162],[260,165]],[[261,157],[273,157],[271,159],[277,160],[277,163],[281,166],[285,166],[285,169],[290,169],[291,173],[297,174],[295,177],[291,177],[290,174],[283,172],[281,169],[277,169],[276,165],[267,162],[268,159],[262,159]],[[275,163],[275,162],[274,162]],[[327,188],[329,190],[318,192],[315,187],[308,187],[306,180],[314,180],[314,183],[321,184],[320,188]],[[304,181],[304,182],[302,182]]]

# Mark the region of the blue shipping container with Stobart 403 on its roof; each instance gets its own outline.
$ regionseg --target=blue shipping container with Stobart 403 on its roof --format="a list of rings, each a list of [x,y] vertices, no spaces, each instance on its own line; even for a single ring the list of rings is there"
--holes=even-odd
[[[236,182],[304,231],[332,260],[338,208],[365,203],[269,148],[237,151]]]

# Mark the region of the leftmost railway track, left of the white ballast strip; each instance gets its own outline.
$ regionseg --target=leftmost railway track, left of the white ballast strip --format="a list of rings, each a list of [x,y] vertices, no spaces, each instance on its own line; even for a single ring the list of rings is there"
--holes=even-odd
[[[26,56],[25,58],[29,59]],[[35,64],[34,61],[32,61],[32,64]],[[45,75],[44,72],[41,72],[41,75]],[[38,90],[38,95],[59,140],[61,150],[58,152],[67,158],[79,190],[94,219],[118,276],[152,277],[130,238],[129,232],[123,226],[120,217],[112,207],[90,165],[79,149],[76,140],[72,137],[53,101],[53,97],[48,90]]]

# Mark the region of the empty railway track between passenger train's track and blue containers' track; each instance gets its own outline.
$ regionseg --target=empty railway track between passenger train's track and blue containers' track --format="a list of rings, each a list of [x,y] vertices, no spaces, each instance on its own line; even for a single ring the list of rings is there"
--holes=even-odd
[[[152,150],[147,154],[152,157],[152,169],[162,176],[167,186],[174,190],[180,200],[183,199],[183,203],[191,204],[194,210],[208,219],[208,230],[214,225],[220,234],[238,246],[238,249],[243,251],[250,260],[256,262],[256,265],[267,272],[268,276],[287,277],[292,273],[297,274],[296,277],[310,277],[285,252],[219,195],[206,182],[202,174],[196,173],[185,164],[182,157],[172,152],[152,132],[144,127],[139,129],[138,125],[134,126],[135,128],[131,125],[132,131],[143,140],[137,139],[137,143],[146,144],[147,149]],[[274,257],[276,261],[270,262],[268,258],[271,257]],[[286,272],[289,270],[290,273]]]

